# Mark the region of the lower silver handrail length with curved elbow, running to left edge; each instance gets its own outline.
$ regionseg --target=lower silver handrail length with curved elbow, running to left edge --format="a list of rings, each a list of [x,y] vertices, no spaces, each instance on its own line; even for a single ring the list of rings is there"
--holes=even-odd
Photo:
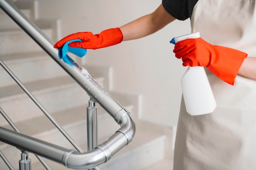
[[[119,122],[121,122],[122,128],[108,140],[94,148],[94,150],[86,153],[69,150],[2,127],[0,127],[0,141],[13,145],[21,150],[26,150],[52,161],[62,163],[68,168],[89,169],[105,163],[112,155],[131,141],[135,133],[135,125],[130,114],[125,114]]]

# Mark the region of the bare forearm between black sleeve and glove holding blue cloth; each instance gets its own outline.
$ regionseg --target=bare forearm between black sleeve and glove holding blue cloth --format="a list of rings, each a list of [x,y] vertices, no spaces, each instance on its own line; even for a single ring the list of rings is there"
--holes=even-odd
[[[123,33],[123,41],[134,40],[153,34],[174,20],[161,4],[153,13],[129,22],[119,29]]]

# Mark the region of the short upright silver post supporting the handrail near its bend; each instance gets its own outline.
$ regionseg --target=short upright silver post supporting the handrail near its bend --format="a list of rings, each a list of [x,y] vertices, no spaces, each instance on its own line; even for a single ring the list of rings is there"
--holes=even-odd
[[[98,145],[97,107],[90,98],[87,107],[87,150],[91,151]],[[94,169],[89,169],[94,170]]]

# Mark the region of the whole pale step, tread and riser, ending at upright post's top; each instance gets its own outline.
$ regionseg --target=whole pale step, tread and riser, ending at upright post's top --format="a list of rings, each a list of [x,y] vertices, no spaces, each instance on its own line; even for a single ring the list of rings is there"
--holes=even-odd
[[[96,81],[101,84],[102,79]],[[70,76],[24,83],[24,86],[50,113],[83,105],[90,98]],[[1,87],[0,94],[0,105],[13,122],[43,114],[18,85]],[[4,124],[5,121],[0,121],[0,125]]]

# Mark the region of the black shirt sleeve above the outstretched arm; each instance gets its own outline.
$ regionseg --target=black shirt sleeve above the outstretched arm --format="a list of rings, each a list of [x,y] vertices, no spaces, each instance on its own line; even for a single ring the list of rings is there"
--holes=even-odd
[[[164,9],[178,20],[191,18],[196,2],[198,0],[162,0]]]

